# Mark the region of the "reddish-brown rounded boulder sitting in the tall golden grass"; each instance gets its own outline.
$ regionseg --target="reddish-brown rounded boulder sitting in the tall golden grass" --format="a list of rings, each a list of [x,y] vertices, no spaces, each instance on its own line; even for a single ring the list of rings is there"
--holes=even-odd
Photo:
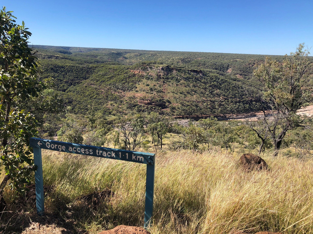
[[[242,166],[245,170],[266,170],[267,163],[258,155],[254,154],[243,154],[238,164]]]

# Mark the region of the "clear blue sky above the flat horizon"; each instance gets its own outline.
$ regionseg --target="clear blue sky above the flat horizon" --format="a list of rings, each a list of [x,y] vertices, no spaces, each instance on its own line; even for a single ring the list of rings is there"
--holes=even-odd
[[[313,1],[2,0],[31,44],[286,54],[313,46]]]

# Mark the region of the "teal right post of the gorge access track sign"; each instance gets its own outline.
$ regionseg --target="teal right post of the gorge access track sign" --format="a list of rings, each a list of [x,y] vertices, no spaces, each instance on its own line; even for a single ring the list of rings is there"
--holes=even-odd
[[[153,210],[153,192],[154,192],[154,164],[147,164],[146,174],[146,204],[145,204],[145,228],[150,226]]]

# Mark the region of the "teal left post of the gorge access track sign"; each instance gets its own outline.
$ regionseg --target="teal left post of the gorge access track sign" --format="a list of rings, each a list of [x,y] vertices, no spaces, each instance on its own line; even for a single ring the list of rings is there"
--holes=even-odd
[[[42,176],[41,149],[33,148],[33,152],[34,163],[37,166],[35,171],[37,214],[42,216],[44,215],[44,178]]]

